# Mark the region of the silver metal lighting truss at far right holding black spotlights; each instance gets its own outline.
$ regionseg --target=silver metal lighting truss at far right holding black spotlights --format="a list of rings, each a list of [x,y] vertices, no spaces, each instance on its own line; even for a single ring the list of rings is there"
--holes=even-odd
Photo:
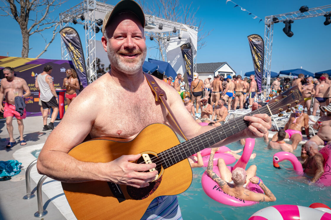
[[[266,72],[266,89],[267,93],[270,92],[270,72],[271,72],[271,52],[272,52],[272,39],[273,39],[273,25],[276,23],[298,20],[309,17],[324,16],[331,12],[331,5],[311,8],[307,12],[301,13],[300,11],[289,12],[279,15],[266,16],[264,18],[264,71]]]

